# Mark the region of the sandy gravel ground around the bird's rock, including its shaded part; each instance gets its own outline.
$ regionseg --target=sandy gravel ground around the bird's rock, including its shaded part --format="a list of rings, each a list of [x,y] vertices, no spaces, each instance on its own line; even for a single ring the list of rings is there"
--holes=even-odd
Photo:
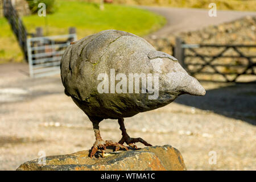
[[[26,73],[27,64],[0,66],[0,170],[39,158],[39,151],[88,150],[95,140],[92,123],[65,96],[59,75],[32,79]],[[127,132],[152,145],[176,147],[188,170],[256,170],[255,84],[203,85],[207,96],[184,95],[126,118]],[[121,138],[117,121],[102,121],[100,129],[106,140]],[[210,151],[217,154],[216,164],[209,164]]]

